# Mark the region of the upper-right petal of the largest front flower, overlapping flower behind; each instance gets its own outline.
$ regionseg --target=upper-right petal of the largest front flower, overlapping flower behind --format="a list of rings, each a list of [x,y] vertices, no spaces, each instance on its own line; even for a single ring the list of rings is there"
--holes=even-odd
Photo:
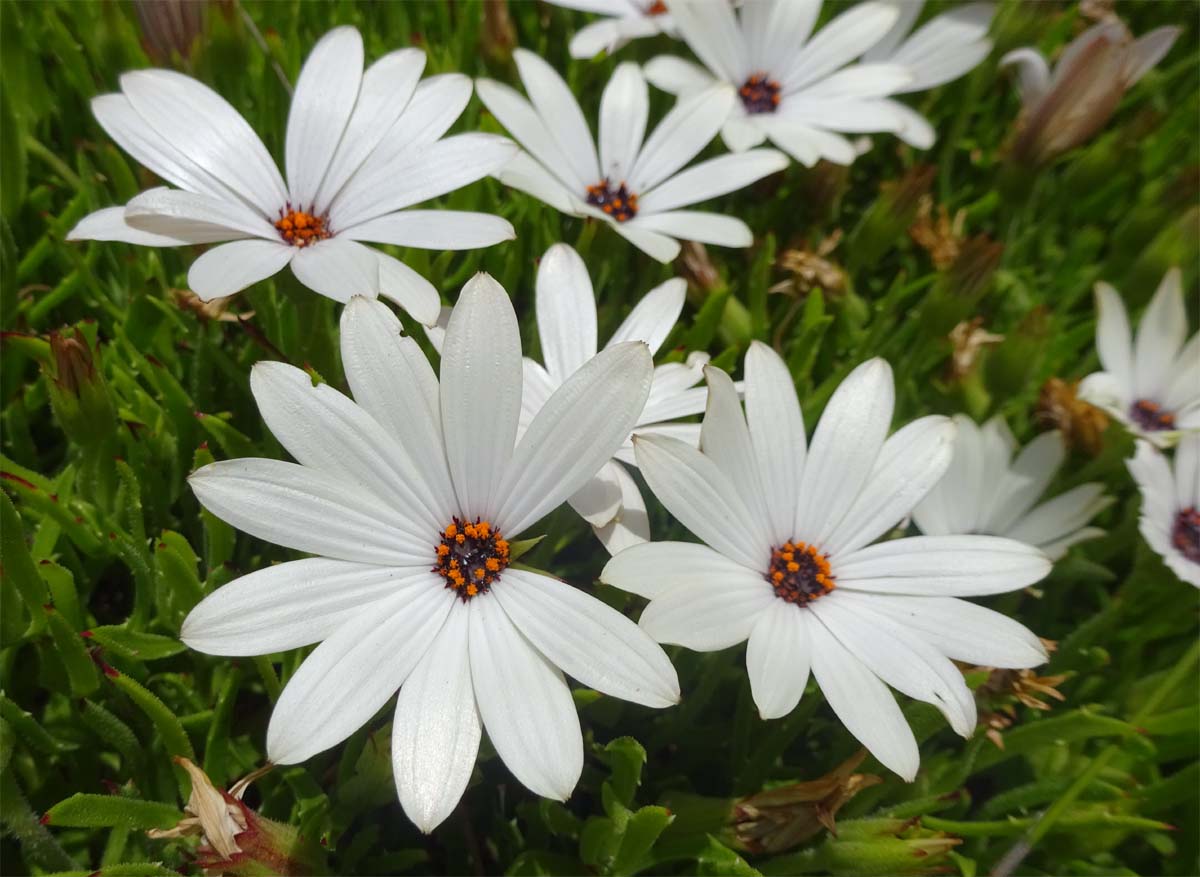
[[[654,362],[641,342],[604,350],[568,378],[512,452],[499,488],[498,524],[516,536],[599,471],[629,437],[650,390]]]

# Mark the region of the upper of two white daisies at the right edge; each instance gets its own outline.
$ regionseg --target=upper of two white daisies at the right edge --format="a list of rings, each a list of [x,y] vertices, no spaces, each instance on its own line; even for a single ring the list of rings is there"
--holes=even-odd
[[[1200,332],[1184,343],[1188,313],[1177,268],[1163,277],[1138,335],[1116,289],[1096,284],[1096,353],[1103,372],[1088,374],[1079,395],[1159,447],[1200,430]]]

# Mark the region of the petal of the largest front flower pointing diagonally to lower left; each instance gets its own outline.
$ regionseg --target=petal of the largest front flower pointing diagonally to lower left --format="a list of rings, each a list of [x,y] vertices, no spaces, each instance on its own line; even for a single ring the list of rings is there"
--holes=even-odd
[[[358,731],[391,698],[442,630],[455,595],[427,572],[318,645],[280,695],[268,757],[296,764]]]

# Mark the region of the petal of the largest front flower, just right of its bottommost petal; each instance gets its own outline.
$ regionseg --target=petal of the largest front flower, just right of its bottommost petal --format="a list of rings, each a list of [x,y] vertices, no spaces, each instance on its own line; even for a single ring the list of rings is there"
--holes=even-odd
[[[468,608],[472,684],[488,739],[526,788],[566,800],[583,770],[583,735],[571,690],[521,636],[499,601],[472,600]]]

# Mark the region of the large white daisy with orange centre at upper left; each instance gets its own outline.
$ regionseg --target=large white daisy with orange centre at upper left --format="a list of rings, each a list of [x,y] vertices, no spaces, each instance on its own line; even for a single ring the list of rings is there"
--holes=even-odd
[[[360,241],[470,250],[511,240],[512,227],[498,216],[404,208],[487,176],[516,145],[481,133],[439,139],[467,106],[470,80],[449,74],[418,84],[424,68],[424,52],[401,49],[364,72],[354,28],[322,37],[288,114],[287,182],[246,120],[209,86],[169,70],[125,73],[120,94],[92,101],[96,120],[178,188],[91,214],[67,238],[151,247],[232,241],[187,272],[204,300],[290,265],[330,299],[378,293],[432,323],[433,286]]]

